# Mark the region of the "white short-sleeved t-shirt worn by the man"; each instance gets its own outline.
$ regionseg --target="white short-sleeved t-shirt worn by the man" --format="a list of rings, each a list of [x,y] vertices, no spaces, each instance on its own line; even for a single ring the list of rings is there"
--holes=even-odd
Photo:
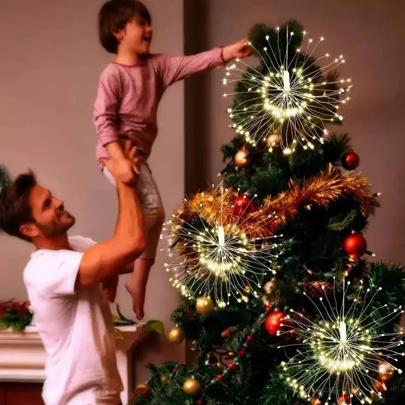
[[[73,250],[38,250],[24,283],[45,350],[46,405],[117,405],[123,385],[112,317],[101,285],[74,291],[83,253],[95,242],[69,237]]]

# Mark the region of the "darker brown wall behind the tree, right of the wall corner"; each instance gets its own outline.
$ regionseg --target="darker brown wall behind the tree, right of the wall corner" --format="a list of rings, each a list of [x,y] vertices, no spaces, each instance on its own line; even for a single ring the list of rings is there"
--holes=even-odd
[[[352,77],[354,86],[350,103],[341,109],[344,127],[335,128],[350,132],[360,156],[359,170],[369,178],[374,191],[383,193],[382,208],[371,218],[366,235],[369,248],[377,259],[405,264],[405,2],[205,0],[186,4],[190,16],[199,16],[195,24],[192,20],[186,23],[186,49],[193,52],[232,43],[258,22],[276,26],[297,19],[314,37],[325,36],[325,52],[343,53],[346,65],[341,73]],[[225,113],[230,100],[221,97],[222,78],[219,69],[186,84],[186,117],[193,117],[186,127],[189,173],[193,162],[198,162],[198,173],[186,177],[188,190],[216,181],[223,168],[219,148],[233,137]],[[195,144],[204,152],[196,152]]]

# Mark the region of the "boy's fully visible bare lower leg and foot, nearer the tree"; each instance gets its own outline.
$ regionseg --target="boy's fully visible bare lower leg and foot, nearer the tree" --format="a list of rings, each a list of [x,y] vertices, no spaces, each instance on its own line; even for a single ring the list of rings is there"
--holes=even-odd
[[[139,258],[134,262],[134,271],[131,278],[126,281],[125,287],[132,297],[132,306],[138,320],[143,319],[145,304],[146,284],[150,268],[152,267],[155,259]]]

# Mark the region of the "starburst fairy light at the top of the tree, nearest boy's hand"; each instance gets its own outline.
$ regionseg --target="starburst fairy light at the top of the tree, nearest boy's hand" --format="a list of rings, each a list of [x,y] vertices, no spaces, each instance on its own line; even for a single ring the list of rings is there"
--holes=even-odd
[[[302,36],[301,45],[292,49],[290,43],[297,35]],[[328,134],[326,126],[343,119],[339,106],[349,101],[344,93],[351,79],[338,79],[334,70],[345,59],[329,53],[315,58],[324,38],[314,41],[307,36],[306,31],[294,32],[288,25],[277,27],[271,36],[266,35],[267,46],[262,50],[249,43],[261,58],[260,66],[254,68],[237,59],[226,67],[223,84],[237,83],[234,93],[224,93],[224,97],[234,96],[228,109],[231,126],[247,143],[255,146],[278,134],[286,154],[294,152],[297,143],[313,149],[312,142],[322,143]]]

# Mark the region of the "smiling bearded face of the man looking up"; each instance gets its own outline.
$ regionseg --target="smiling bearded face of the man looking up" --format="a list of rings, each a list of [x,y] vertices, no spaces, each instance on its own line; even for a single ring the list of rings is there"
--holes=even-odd
[[[65,211],[63,201],[36,184],[29,195],[34,224],[31,237],[54,237],[65,233],[74,225],[75,218]]]

